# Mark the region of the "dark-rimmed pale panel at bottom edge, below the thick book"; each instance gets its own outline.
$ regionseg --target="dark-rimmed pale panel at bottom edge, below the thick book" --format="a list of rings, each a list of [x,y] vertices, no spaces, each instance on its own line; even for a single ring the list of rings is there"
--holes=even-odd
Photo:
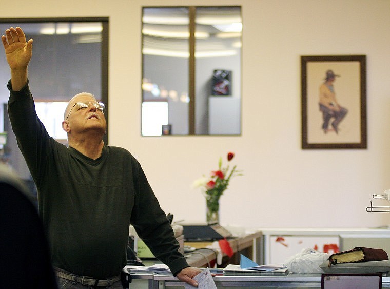
[[[321,289],[381,289],[382,273],[322,274]]]

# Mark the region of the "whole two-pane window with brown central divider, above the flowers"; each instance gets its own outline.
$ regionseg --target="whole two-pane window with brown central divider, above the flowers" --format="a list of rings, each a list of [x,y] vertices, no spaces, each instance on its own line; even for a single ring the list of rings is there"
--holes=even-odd
[[[241,134],[241,34],[241,7],[143,8],[143,106],[168,105],[154,133]]]

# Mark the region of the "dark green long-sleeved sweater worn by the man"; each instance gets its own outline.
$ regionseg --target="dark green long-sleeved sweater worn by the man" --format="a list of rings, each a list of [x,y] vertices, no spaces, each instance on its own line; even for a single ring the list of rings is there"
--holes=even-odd
[[[8,113],[38,190],[52,264],[73,274],[105,279],[126,265],[129,224],[175,275],[188,264],[139,162],[105,145],[92,160],[51,138],[26,86],[12,91]]]

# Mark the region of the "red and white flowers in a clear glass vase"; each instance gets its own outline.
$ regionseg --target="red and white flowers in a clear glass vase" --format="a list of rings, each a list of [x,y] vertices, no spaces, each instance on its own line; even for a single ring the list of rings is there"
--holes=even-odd
[[[227,153],[227,161],[230,162],[235,154],[233,152]],[[223,192],[227,189],[230,179],[233,176],[241,176],[241,171],[237,170],[237,165],[231,169],[229,164],[222,167],[222,158],[218,162],[218,170],[211,171],[209,177],[203,176],[193,183],[194,187],[200,187],[206,198],[206,221],[207,223],[219,222],[219,199]]]

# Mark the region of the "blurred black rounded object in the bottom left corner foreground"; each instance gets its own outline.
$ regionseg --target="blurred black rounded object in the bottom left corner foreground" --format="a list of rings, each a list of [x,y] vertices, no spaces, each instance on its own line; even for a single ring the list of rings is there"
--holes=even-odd
[[[53,288],[49,246],[32,196],[0,164],[0,288]]]

